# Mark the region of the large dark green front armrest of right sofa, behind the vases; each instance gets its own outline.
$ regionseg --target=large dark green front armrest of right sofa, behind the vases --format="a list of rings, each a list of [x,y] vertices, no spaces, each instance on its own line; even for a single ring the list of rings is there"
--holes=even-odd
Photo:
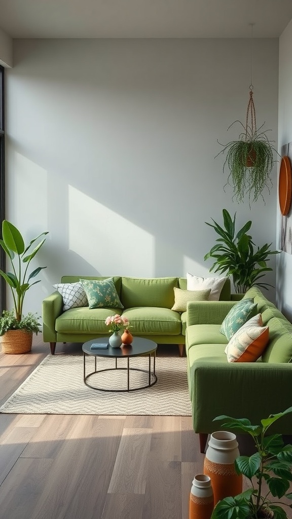
[[[190,368],[195,432],[220,430],[216,416],[249,418],[253,425],[291,406],[292,364],[197,361]],[[236,432],[236,431],[235,431]],[[292,434],[291,417],[271,426],[271,433]]]

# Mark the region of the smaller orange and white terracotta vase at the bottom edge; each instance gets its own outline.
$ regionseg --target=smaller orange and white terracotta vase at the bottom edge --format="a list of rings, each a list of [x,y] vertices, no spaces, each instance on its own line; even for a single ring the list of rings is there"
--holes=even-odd
[[[189,519],[210,519],[214,509],[214,495],[210,477],[197,474],[190,493]]]

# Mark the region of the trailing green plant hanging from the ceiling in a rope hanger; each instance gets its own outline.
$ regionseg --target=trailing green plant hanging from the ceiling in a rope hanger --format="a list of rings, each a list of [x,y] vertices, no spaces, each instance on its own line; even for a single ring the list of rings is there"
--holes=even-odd
[[[268,188],[270,194],[270,188],[273,186],[270,174],[275,162],[274,154],[278,155],[278,153],[273,146],[275,141],[270,141],[267,132],[262,129],[264,123],[257,129],[253,85],[249,87],[246,125],[244,126],[241,121],[236,120],[229,128],[235,122],[242,126],[243,131],[237,141],[231,141],[228,144],[219,143],[223,149],[216,157],[226,153],[223,172],[228,166],[229,176],[225,186],[229,184],[233,187],[233,199],[235,198],[240,203],[247,196],[249,203],[256,202],[259,197],[263,199],[264,188]]]

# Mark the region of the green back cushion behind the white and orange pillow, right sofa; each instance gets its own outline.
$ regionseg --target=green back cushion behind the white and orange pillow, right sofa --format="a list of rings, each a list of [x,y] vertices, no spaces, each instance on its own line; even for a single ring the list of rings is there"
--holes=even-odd
[[[286,319],[269,320],[270,341],[262,362],[292,362],[292,324]]]

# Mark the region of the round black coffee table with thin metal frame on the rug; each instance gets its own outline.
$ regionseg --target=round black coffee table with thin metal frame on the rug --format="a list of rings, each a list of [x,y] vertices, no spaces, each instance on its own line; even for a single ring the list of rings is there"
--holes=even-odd
[[[155,356],[157,350],[157,344],[153,342],[153,340],[143,339],[141,337],[134,337],[131,345],[122,345],[120,348],[112,348],[108,344],[108,337],[100,337],[93,340],[88,340],[82,346],[83,350],[83,381],[86,386],[91,389],[96,389],[98,391],[111,391],[111,392],[124,392],[124,391],[138,391],[139,389],[146,389],[154,386],[157,382],[157,376],[155,375]],[[104,349],[90,349],[91,344],[98,343],[108,345],[107,348]],[[92,371],[86,375],[86,357],[91,356],[95,358],[95,371]],[[131,357],[144,357],[148,356],[149,365],[148,370],[142,370],[138,367],[130,367],[130,358]],[[115,359],[114,367],[109,367],[106,369],[98,370],[97,369],[97,358],[98,357],[107,357]],[[153,359],[153,370],[151,371],[151,358]],[[127,366],[126,367],[118,367],[117,359],[126,359]],[[121,364],[123,361],[119,361]],[[115,372],[120,370],[127,371],[127,389],[105,389],[97,386],[92,386],[88,379],[95,375],[96,373],[102,373],[104,371]],[[130,372],[132,371],[142,371],[148,374],[148,384],[144,386],[138,386],[135,388],[130,388]]]

